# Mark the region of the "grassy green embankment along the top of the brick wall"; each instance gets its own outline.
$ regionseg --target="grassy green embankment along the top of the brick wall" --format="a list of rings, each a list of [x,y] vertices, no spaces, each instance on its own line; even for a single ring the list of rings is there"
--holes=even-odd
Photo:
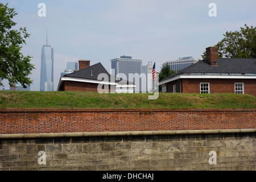
[[[256,97],[247,94],[0,91],[0,109],[256,109]]]

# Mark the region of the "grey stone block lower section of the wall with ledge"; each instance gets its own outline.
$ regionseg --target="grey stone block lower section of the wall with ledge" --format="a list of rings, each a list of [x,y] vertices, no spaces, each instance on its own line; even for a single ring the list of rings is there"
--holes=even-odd
[[[86,134],[1,135],[0,170],[256,169],[255,130]],[[210,151],[216,164],[209,164]]]

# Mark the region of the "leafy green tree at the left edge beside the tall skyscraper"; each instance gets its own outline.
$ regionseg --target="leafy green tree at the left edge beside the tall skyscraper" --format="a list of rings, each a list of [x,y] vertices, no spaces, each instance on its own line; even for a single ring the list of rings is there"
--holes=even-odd
[[[13,30],[16,23],[12,19],[18,13],[7,5],[0,3],[0,85],[3,86],[2,81],[7,79],[10,86],[19,82],[26,88],[32,84],[28,75],[35,67],[30,63],[32,57],[23,56],[20,51],[30,34],[26,27]]]

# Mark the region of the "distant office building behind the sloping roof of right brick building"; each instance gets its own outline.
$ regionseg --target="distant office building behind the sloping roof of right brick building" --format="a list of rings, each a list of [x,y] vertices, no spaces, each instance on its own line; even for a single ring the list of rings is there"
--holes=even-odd
[[[172,71],[180,71],[181,69],[187,68],[197,62],[198,60],[193,59],[192,56],[179,57],[179,60],[175,61],[166,61]]]

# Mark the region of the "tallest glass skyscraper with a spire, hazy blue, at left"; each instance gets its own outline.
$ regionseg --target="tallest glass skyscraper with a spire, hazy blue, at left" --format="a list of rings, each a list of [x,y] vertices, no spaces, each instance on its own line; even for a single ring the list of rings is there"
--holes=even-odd
[[[48,45],[42,47],[40,91],[53,91],[53,48]]]

